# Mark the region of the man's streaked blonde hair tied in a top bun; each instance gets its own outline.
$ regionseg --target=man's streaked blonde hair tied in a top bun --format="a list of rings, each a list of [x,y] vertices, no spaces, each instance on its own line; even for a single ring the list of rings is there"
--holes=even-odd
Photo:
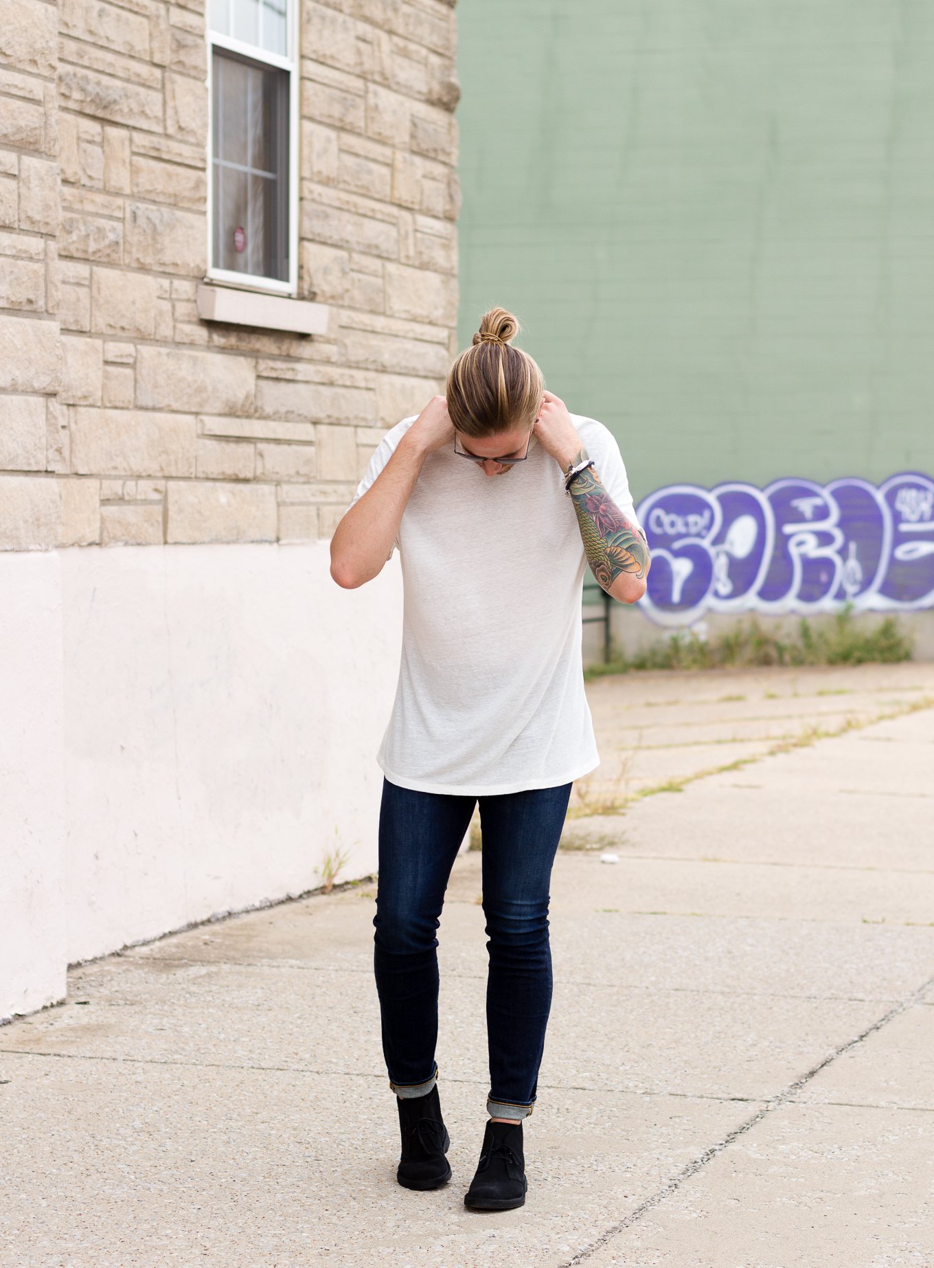
[[[511,339],[518,318],[506,308],[490,308],[470,347],[457,356],[447,375],[447,413],[464,436],[494,436],[513,427],[531,430],[545,391],[535,360]]]

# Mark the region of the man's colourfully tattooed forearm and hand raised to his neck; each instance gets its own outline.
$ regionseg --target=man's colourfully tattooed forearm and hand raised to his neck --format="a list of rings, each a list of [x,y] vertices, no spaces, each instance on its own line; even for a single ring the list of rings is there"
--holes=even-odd
[[[589,458],[566,406],[553,392],[545,393],[535,434],[563,472]],[[570,497],[591,572],[613,598],[635,604],[645,593],[651,563],[645,538],[603,487],[596,465],[574,479]]]

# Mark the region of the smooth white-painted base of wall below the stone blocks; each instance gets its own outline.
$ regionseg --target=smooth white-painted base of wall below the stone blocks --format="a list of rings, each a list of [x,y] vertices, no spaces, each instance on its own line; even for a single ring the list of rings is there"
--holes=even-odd
[[[65,967],[376,866],[398,558],[326,541],[0,554],[0,1018]]]

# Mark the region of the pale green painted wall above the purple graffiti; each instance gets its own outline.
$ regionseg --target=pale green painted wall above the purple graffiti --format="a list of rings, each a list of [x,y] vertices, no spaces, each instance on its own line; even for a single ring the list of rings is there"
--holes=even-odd
[[[933,0],[460,0],[460,345],[679,479],[934,470]]]

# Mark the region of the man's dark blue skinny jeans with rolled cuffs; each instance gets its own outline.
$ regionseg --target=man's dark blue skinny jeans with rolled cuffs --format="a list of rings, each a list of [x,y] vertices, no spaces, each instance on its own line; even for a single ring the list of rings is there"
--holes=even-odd
[[[493,1117],[523,1118],[535,1104],[551,1007],[549,883],[570,787],[479,798]],[[383,780],[374,970],[383,1055],[400,1097],[423,1096],[437,1079],[436,931],[477,801]]]

